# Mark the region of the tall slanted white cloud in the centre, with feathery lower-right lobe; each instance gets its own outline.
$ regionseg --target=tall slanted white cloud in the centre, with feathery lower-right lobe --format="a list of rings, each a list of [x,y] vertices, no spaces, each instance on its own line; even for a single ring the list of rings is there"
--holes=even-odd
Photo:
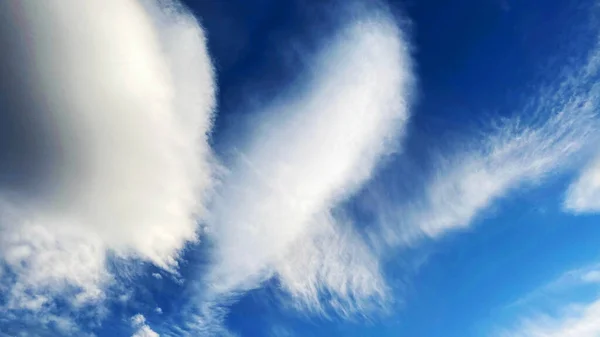
[[[294,303],[321,313],[384,302],[377,258],[332,210],[396,149],[412,74],[393,20],[362,15],[316,58],[306,87],[260,115],[224,176],[209,221],[214,296],[277,277]]]

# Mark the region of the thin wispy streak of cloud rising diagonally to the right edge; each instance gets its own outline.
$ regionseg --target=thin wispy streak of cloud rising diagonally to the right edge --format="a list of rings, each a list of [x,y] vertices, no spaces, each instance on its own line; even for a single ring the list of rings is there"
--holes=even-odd
[[[440,155],[415,198],[400,206],[377,200],[383,241],[395,246],[468,227],[509,192],[577,165],[599,129],[595,62],[593,54],[567,68],[519,114]]]

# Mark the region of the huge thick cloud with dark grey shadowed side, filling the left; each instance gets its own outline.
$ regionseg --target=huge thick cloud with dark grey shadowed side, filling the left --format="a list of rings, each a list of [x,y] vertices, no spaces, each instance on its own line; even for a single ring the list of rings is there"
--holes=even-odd
[[[0,11],[2,84],[20,89],[1,97],[3,153],[17,154],[0,168],[3,310],[102,299],[109,253],[172,270],[211,177],[213,75],[195,18],[165,1]]]

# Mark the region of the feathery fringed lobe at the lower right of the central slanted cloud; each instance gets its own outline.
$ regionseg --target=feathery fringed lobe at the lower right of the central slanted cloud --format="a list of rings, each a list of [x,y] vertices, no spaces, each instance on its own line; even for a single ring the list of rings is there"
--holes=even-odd
[[[305,235],[275,263],[282,289],[297,308],[324,316],[333,309],[342,317],[385,309],[391,298],[379,257],[350,223],[322,219]]]

